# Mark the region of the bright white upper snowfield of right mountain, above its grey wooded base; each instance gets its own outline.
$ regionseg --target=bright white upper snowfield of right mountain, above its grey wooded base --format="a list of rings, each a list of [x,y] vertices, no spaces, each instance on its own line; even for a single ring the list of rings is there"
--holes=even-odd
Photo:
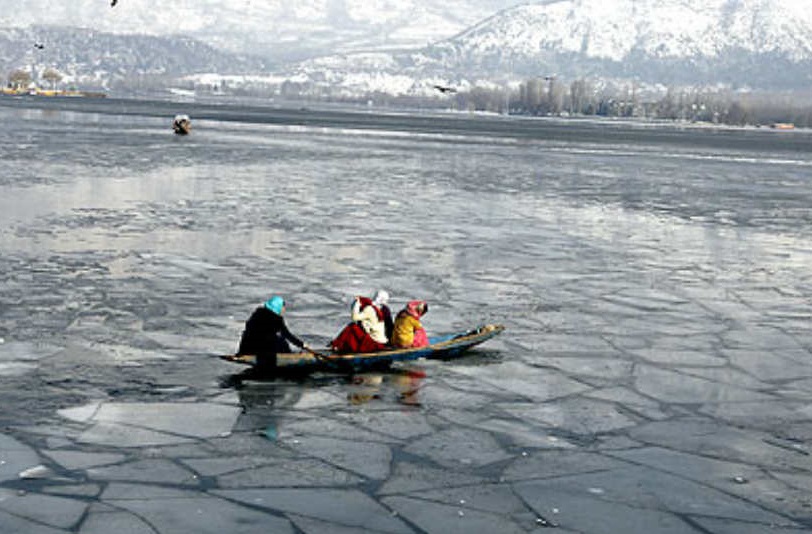
[[[453,46],[622,61],[634,54],[687,59],[737,49],[812,57],[812,10],[798,0],[559,0],[508,10],[466,31]]]

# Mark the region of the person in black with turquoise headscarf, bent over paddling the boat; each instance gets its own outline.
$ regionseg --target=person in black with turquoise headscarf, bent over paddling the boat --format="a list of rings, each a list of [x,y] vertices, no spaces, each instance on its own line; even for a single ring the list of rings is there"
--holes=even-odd
[[[276,355],[280,352],[291,352],[290,343],[304,350],[311,350],[309,345],[288,330],[285,319],[285,300],[280,296],[268,299],[258,307],[245,322],[237,354],[253,354],[257,357],[258,369],[276,367]]]

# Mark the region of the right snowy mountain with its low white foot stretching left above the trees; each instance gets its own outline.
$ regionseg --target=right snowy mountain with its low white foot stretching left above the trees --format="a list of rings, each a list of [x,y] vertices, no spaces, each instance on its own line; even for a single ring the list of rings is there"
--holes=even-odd
[[[808,88],[812,9],[798,0],[547,0],[420,51],[323,57],[290,75],[407,93],[544,76]]]

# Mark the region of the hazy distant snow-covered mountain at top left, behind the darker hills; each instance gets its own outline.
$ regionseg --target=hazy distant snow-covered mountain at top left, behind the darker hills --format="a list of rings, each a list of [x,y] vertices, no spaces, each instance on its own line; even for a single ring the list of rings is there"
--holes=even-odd
[[[272,61],[416,48],[522,0],[0,0],[0,27],[184,35]]]

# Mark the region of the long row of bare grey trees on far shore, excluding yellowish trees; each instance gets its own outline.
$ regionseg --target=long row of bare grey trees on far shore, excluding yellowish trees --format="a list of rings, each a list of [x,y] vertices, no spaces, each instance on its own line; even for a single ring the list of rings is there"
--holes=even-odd
[[[121,88],[126,92],[125,88]],[[198,84],[153,88],[171,97],[244,97],[269,103],[344,104],[377,109],[481,112],[527,117],[618,118],[718,126],[812,128],[812,92],[668,88],[642,94],[633,86],[597,89],[577,80],[527,80],[510,87],[474,87],[434,96],[384,92],[348,95],[341,88],[283,83],[279,87]]]

